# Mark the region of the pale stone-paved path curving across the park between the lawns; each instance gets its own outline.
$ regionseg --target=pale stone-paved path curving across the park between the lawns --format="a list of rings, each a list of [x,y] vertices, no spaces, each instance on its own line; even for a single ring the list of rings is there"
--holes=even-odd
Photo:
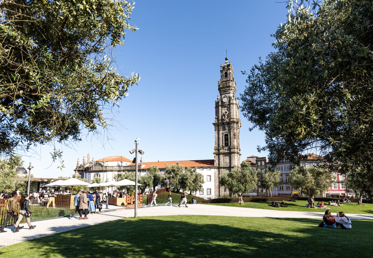
[[[214,216],[232,216],[232,217],[270,217],[270,218],[319,218],[323,213],[300,212],[300,211],[280,211],[280,210],[262,210],[253,208],[228,207],[219,205],[191,204],[185,207],[170,207],[158,205],[147,208],[139,208],[137,211],[139,217],[142,216],[163,216],[163,215],[214,215]],[[0,247],[12,245],[15,243],[31,240],[34,238],[48,236],[56,233],[66,232],[72,229],[87,227],[107,221],[118,220],[120,218],[133,217],[134,210],[115,210],[100,214],[92,214],[88,220],[79,220],[79,217],[69,219],[67,217],[54,218],[50,220],[41,220],[32,222],[35,229],[29,230],[27,223],[22,223],[23,229],[13,233],[14,226],[6,227],[6,233],[0,233]],[[373,220],[373,215],[367,214],[347,214],[351,219]]]

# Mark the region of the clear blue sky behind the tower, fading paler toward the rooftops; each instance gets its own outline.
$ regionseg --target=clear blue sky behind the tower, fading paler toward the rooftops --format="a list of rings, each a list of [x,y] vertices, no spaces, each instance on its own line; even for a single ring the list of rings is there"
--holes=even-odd
[[[278,1],[279,2],[279,1]],[[83,136],[63,151],[66,168],[51,164],[52,147],[37,147],[31,161],[36,177],[70,176],[79,157],[95,159],[123,155],[131,158],[134,139],[140,138],[142,159],[150,161],[213,159],[214,105],[218,94],[220,63],[225,48],[232,62],[237,96],[258,57],[273,50],[274,33],[286,21],[286,3],[257,1],[136,1],[130,20],[139,29],[128,32],[124,46],[115,48],[119,71],[139,73],[141,80],[116,108],[116,128],[106,135]],[[107,117],[113,115],[107,114]],[[241,160],[258,153],[264,133],[250,132],[240,114]]]

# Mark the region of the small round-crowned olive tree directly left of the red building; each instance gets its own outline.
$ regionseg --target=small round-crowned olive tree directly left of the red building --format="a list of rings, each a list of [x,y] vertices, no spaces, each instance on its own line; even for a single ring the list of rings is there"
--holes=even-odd
[[[298,189],[308,195],[308,204],[312,208],[314,205],[314,196],[327,191],[332,182],[335,180],[332,172],[323,167],[303,167],[297,166],[290,171],[289,182]]]

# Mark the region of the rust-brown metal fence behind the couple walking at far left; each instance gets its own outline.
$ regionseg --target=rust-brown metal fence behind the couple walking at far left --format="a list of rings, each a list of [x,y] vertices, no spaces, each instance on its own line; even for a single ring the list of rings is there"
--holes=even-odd
[[[6,219],[6,207],[10,196],[6,195],[0,199],[0,225]],[[17,212],[19,211],[19,200],[21,196],[17,196]],[[40,195],[30,193],[28,197],[29,210],[32,212],[30,217],[31,220],[40,220],[44,218],[61,217],[65,215],[71,215],[74,208],[74,195],[63,195],[55,194],[54,198],[50,198],[48,194]],[[22,218],[21,222],[25,222],[25,217]],[[10,218],[6,226],[15,224],[13,217]]]

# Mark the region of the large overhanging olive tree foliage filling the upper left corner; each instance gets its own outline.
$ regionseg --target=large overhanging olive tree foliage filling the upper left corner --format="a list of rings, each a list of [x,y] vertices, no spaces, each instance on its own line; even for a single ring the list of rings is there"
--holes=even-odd
[[[111,55],[137,30],[133,8],[125,0],[0,1],[0,154],[107,129],[103,110],[140,79],[117,72]]]

